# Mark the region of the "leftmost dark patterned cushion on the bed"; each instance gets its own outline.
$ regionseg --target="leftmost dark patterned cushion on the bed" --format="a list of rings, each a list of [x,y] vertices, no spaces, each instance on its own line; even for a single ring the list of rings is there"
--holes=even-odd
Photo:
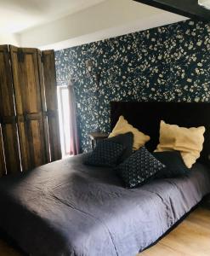
[[[120,143],[115,143],[108,139],[104,140],[96,145],[84,164],[90,166],[116,166],[124,149],[125,147]]]

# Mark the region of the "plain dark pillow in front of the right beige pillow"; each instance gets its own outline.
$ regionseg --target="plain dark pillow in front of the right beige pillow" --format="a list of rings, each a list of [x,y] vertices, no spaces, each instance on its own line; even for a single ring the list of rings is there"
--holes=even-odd
[[[179,151],[154,152],[152,154],[166,166],[156,173],[157,178],[187,176],[190,173]]]

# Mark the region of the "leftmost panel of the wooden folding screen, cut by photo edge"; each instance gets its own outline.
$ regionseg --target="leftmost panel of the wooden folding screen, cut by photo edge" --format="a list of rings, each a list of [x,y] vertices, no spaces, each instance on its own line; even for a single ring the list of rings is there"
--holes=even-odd
[[[20,172],[20,150],[14,108],[14,91],[7,45],[0,46],[0,102],[3,135],[3,142],[0,137],[0,151],[3,150],[1,148],[4,148],[7,173]],[[0,158],[2,157],[0,156]]]

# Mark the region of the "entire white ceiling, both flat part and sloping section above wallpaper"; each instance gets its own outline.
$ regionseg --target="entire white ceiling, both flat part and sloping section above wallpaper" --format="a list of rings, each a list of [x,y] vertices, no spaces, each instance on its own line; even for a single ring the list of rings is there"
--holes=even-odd
[[[180,20],[133,0],[0,0],[0,44],[64,49]]]

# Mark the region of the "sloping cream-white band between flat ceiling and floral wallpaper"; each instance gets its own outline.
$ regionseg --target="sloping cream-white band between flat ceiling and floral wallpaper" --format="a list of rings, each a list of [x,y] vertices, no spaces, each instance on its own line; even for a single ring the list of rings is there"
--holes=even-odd
[[[43,26],[20,33],[20,45],[62,49],[186,18],[132,0],[106,0]]]

